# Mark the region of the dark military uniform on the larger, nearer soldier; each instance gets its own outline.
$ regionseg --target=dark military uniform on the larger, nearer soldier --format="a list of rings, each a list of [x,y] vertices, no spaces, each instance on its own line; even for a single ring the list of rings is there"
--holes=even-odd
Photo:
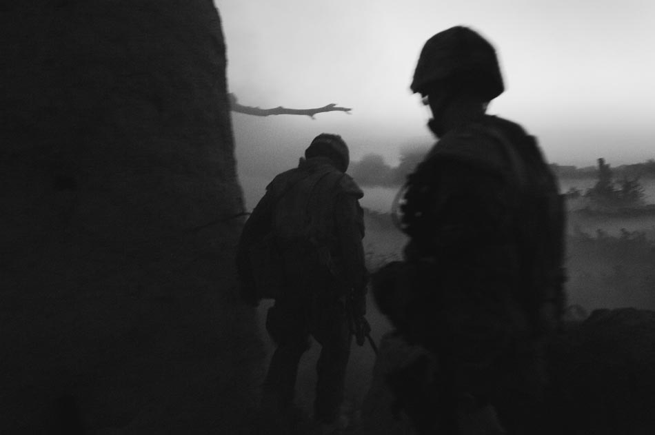
[[[487,115],[450,130],[402,210],[405,258],[429,283],[407,307],[410,341],[436,354],[454,394],[492,403],[511,434],[536,433],[542,338],[564,295],[561,199],[534,138]]]

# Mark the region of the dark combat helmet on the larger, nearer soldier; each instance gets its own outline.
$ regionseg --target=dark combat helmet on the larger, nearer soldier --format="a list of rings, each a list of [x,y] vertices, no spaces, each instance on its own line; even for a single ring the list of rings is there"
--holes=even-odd
[[[443,30],[423,45],[410,88],[426,94],[438,82],[472,85],[486,101],[505,90],[496,50],[474,30],[463,26]]]

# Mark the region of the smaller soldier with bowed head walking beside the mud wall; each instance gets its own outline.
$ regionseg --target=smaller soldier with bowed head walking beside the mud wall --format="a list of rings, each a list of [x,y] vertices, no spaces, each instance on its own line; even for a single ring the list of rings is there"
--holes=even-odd
[[[365,322],[363,192],[345,174],[349,161],[341,136],[316,136],[298,168],[266,188],[243,229],[237,263],[246,301],[275,299],[266,319],[277,347],[263,385],[264,414],[292,409],[299,361],[313,336],[321,344],[314,419],[325,432],[339,423],[352,334]],[[267,236],[276,251],[271,262],[279,263],[256,270],[250,248]],[[280,288],[258,290],[257,278],[276,271]]]

